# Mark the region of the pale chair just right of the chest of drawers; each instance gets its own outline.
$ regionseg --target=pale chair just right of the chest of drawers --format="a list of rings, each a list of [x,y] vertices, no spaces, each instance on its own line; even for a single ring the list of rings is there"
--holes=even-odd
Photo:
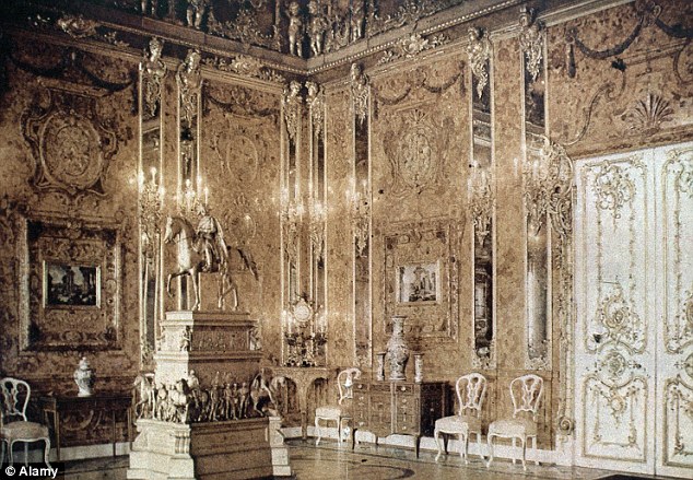
[[[435,421],[433,436],[438,446],[438,455],[435,456],[435,459],[437,461],[443,453],[441,448],[441,434],[445,433],[448,435],[459,435],[461,443],[459,454],[465,459],[465,464],[469,464],[467,459],[469,434],[475,433],[477,443],[479,444],[479,455],[483,460],[483,454],[481,453],[481,408],[486,396],[486,377],[478,373],[463,375],[457,379],[455,391],[457,393],[459,413]]]

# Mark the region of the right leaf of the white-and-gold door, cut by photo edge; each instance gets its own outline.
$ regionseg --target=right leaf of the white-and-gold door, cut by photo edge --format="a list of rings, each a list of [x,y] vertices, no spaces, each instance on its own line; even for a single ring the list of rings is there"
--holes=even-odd
[[[657,472],[693,477],[693,145],[659,149]],[[688,470],[686,470],[688,469]]]

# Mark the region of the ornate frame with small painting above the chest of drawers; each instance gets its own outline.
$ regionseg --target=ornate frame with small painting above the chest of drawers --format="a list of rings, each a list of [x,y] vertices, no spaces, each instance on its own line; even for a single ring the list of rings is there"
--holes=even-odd
[[[394,224],[384,241],[385,318],[406,315],[421,339],[456,339],[459,229],[448,219]],[[388,329],[385,321],[385,331]]]

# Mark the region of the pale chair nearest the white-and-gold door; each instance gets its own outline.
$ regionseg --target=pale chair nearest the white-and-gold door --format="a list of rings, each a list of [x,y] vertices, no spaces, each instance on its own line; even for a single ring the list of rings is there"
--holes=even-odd
[[[537,450],[537,417],[539,407],[541,406],[541,397],[543,395],[544,383],[539,375],[524,375],[510,382],[510,399],[513,400],[513,418],[502,419],[492,422],[489,425],[489,434],[486,442],[489,443],[489,461],[486,468],[493,461],[493,437],[513,438],[513,447],[515,448],[516,440],[522,444],[522,468],[527,470],[525,461],[527,453],[527,438],[532,440],[532,449]],[[519,398],[518,398],[519,397]],[[531,414],[531,419],[522,417],[522,413]],[[513,457],[513,464],[515,464]],[[539,465],[539,460],[536,460]]]

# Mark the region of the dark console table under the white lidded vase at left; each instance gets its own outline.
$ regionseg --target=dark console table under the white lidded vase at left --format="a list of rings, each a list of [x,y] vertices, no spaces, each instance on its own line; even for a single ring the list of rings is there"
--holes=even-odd
[[[52,414],[52,429],[56,435],[56,454],[60,460],[60,417],[68,412],[97,411],[110,414],[113,433],[113,456],[116,456],[116,413],[125,412],[128,422],[128,441],[132,440],[132,395],[99,393],[90,397],[46,396],[38,398],[44,422],[49,424],[48,414]]]

